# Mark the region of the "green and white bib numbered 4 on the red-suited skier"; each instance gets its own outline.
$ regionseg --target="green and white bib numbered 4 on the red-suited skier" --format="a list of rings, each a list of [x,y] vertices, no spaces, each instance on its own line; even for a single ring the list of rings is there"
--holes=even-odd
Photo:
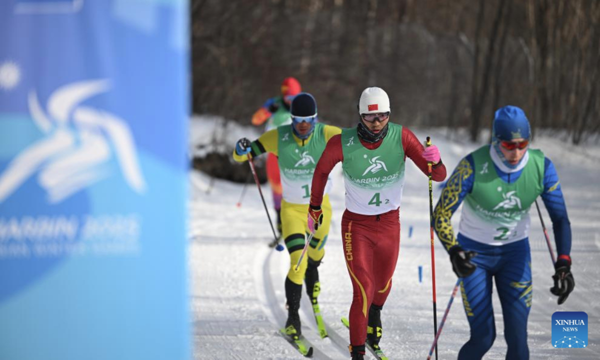
[[[346,208],[363,215],[397,209],[404,187],[402,126],[390,123],[383,143],[374,150],[362,146],[356,128],[343,129],[341,148]]]

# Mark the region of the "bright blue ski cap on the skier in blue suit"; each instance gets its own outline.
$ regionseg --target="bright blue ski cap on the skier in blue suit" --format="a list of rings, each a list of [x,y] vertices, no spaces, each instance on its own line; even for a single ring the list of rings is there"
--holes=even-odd
[[[492,139],[495,142],[531,138],[531,128],[525,112],[517,106],[507,105],[496,110]]]

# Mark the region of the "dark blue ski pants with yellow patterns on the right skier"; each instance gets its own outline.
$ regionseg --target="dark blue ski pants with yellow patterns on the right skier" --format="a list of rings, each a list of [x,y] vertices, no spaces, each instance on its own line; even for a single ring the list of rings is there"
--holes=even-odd
[[[492,246],[458,235],[464,250],[478,253],[471,261],[477,269],[461,281],[464,310],[471,337],[460,349],[458,359],[479,360],[496,339],[492,307],[492,278],[502,304],[506,359],[529,359],[527,317],[532,302],[531,252],[529,239]]]

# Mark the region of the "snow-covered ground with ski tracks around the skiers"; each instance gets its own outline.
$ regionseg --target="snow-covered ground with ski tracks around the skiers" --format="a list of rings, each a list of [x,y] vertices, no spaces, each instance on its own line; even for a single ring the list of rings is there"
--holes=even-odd
[[[214,118],[194,118],[193,142],[208,141]],[[256,130],[230,126],[231,144]],[[220,130],[218,130],[220,131]],[[200,136],[203,133],[205,136]],[[450,141],[443,130],[415,131],[419,139],[431,136],[439,146],[448,173],[458,161],[479,145]],[[226,136],[226,134],[223,134]],[[204,139],[204,140],[199,140]],[[552,286],[553,267],[535,208],[532,209],[530,243],[533,268],[533,306],[529,317],[529,348],[532,359],[600,358],[600,146],[587,148],[566,145],[555,137],[539,136],[533,148],[541,148],[553,160],[560,176],[573,232],[572,272],[576,287],[565,304],[556,304]],[[402,224],[400,259],[388,301],[382,311],[383,338],[380,345],[391,359],[425,359],[433,341],[431,254],[429,236],[427,178],[408,161],[407,179],[400,211]],[[317,335],[306,295],[302,298],[303,334],[316,347],[314,358],[347,359],[348,332],[340,322],[347,316],[352,286],[344,265],[341,242],[341,215],[344,186],[341,168],[332,172],[334,188],[331,202],[333,222],[326,245],[326,256],[319,268],[320,307],[330,337]],[[277,335],[286,319],[283,281],[289,266],[286,251],[267,246],[272,239],[265,210],[256,185],[248,184],[238,208],[241,184],[215,181],[196,170],[190,172],[190,272],[193,347],[195,359],[302,359],[303,357]],[[434,202],[439,196],[434,185]],[[274,218],[271,193],[263,193]],[[543,209],[545,222],[550,218]],[[455,226],[459,215],[454,216]],[[412,228],[412,231],[410,229]],[[438,322],[448,303],[456,277],[448,255],[436,238],[436,282]],[[422,266],[422,283],[418,267]],[[589,347],[554,349],[551,346],[551,316],[554,311],[585,311],[589,316]],[[502,309],[494,294],[497,337],[485,359],[504,359]],[[439,358],[452,359],[469,338],[469,325],[460,301],[452,305],[439,341]],[[369,358],[370,355],[367,355]]]

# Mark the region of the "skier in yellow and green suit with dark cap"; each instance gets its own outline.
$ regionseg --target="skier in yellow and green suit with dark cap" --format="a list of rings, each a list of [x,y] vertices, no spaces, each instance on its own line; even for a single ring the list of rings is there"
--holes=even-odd
[[[288,309],[286,334],[291,338],[298,338],[301,334],[298,310],[302,295],[302,280],[305,280],[320,335],[325,337],[325,326],[320,317],[317,303],[317,296],[320,292],[317,268],[325,255],[323,247],[327,241],[331,224],[331,203],[329,203],[327,195],[323,197],[322,204],[325,221],[318,227],[308,245],[308,256],[302,258],[297,271],[295,268],[304,248],[305,236],[309,231],[306,214],[314,168],[329,139],[340,134],[341,129],[323,125],[318,121],[316,100],[306,92],[293,98],[290,112],[292,124],[269,130],[253,142],[245,137],[239,139],[233,152],[233,158],[242,162],[248,160],[248,153],[251,157],[265,152],[277,155],[281,185],[283,185],[281,224],[283,239],[287,251],[290,253],[290,269],[285,282]],[[331,189],[331,186],[332,182],[329,178],[325,193]]]

